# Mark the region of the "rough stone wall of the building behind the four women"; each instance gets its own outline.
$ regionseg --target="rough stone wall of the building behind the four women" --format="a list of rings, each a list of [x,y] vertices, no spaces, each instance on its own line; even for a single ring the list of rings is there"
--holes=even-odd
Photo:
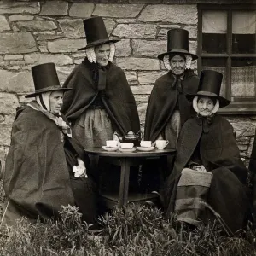
[[[77,51],[86,44],[84,18],[101,15],[109,35],[121,39],[116,44],[115,62],[125,70],[131,84],[142,127],[154,81],[166,73],[156,56],[166,51],[167,30],[189,30],[189,48],[196,51],[196,3],[201,1],[84,2],[0,2],[0,157],[9,147],[15,108],[25,103],[24,96],[33,90],[31,67],[53,61],[63,82],[84,59],[84,53]],[[193,67],[196,71],[196,63]],[[255,119],[230,117],[230,121],[236,129],[241,154],[249,155]]]

